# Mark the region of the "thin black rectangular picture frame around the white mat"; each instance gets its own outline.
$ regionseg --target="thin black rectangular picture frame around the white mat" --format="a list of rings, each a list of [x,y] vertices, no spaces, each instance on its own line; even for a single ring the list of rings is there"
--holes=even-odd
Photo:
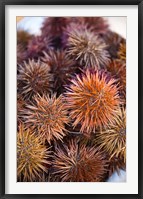
[[[5,194],[5,6],[138,5],[138,194]],[[134,154],[133,154],[134,155]],[[143,199],[143,0],[0,0],[0,199]]]

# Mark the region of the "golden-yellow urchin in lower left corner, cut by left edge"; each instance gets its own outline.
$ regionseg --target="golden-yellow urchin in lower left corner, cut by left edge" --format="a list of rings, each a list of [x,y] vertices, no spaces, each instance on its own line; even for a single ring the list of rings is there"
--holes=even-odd
[[[17,133],[17,178],[18,181],[33,182],[48,171],[50,161],[49,149],[30,129],[20,124]]]

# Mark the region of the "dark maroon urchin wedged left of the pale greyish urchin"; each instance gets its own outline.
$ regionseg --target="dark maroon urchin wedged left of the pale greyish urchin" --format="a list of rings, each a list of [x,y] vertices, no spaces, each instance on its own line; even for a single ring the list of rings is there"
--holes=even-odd
[[[44,52],[44,55],[42,61],[48,64],[54,77],[54,91],[63,90],[63,86],[69,83],[69,79],[76,72],[76,63],[64,50],[50,50],[48,53]]]

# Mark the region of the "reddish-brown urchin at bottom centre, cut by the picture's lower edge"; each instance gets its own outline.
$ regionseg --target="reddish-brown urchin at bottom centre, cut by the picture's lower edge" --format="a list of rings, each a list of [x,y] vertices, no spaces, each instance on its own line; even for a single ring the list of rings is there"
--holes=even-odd
[[[53,173],[62,182],[100,182],[107,172],[107,161],[95,147],[80,146],[76,139],[56,149]]]

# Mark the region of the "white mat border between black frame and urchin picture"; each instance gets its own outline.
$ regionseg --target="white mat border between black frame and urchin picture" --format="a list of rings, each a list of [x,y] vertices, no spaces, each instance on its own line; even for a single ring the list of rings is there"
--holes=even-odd
[[[17,183],[16,16],[127,17],[127,180],[124,183]],[[6,194],[138,193],[137,6],[6,6]]]

